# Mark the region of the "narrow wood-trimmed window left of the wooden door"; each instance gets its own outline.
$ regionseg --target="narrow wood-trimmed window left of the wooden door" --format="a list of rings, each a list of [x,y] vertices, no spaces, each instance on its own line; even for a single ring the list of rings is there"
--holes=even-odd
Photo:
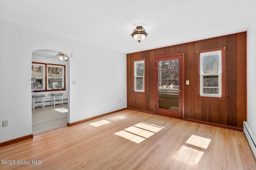
[[[133,61],[134,92],[145,92],[145,60]]]

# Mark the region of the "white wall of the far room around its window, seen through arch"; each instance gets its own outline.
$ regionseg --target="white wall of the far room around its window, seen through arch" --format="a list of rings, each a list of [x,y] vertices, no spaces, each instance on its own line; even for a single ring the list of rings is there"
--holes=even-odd
[[[66,65],[66,82],[67,80],[69,80],[69,61],[70,59],[68,59],[68,61],[64,61],[64,60],[60,60],[59,58],[48,58],[48,59],[44,59],[46,57],[43,56],[39,56],[39,55],[32,55],[32,61],[33,62],[38,62],[38,63],[51,63],[51,64],[61,64],[61,65]],[[66,83],[66,89],[69,89],[69,82]],[[68,102],[68,98],[69,98],[69,90],[61,90],[61,91],[56,91],[56,92],[40,92],[40,90],[34,90],[34,94],[44,94],[45,98],[44,101],[45,105],[51,105],[51,102],[47,102],[47,101],[51,101],[51,96],[49,96],[51,93],[63,93],[63,103],[67,103]],[[59,97],[57,97],[58,100]],[[66,100],[67,99],[67,100]],[[35,102],[40,102],[41,98],[35,98]],[[35,107],[41,107],[41,105],[37,105]]]

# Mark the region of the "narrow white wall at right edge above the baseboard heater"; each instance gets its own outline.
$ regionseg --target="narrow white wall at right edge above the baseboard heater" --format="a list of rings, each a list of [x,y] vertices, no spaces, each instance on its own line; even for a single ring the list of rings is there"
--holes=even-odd
[[[256,134],[256,21],[247,31],[247,121]]]

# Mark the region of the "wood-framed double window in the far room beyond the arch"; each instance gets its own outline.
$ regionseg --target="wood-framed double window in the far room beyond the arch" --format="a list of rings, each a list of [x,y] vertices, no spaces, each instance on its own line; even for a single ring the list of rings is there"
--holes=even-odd
[[[65,65],[32,62],[31,69],[33,82],[31,88],[34,91],[66,90]],[[52,84],[55,84],[54,88]]]

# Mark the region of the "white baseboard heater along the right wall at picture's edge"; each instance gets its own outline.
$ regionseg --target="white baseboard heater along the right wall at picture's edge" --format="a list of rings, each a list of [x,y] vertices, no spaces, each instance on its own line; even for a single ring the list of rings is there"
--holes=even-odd
[[[244,134],[250,144],[254,157],[256,158],[256,135],[252,131],[247,121],[244,121]]]

